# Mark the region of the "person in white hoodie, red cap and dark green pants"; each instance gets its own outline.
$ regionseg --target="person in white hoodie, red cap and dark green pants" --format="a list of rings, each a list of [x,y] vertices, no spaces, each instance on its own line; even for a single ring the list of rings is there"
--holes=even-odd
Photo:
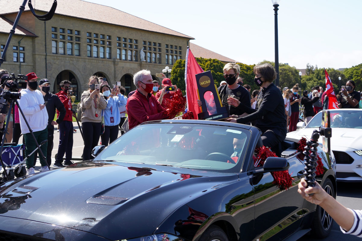
[[[35,73],[29,73],[28,81],[26,81],[26,89],[20,91],[21,98],[18,100],[19,106],[24,113],[25,119],[28,121],[30,128],[33,130],[33,134],[38,143],[48,139],[48,112],[46,111],[43,94],[37,90],[38,88],[38,77]],[[28,126],[24,120],[24,117],[20,115],[20,128],[21,133],[25,139],[25,155],[29,155],[37,148],[36,143],[30,133]],[[47,143],[40,147],[43,154],[47,153]],[[42,158],[42,155],[38,151],[41,168],[40,171],[49,170],[46,160]],[[34,153],[26,159],[26,175],[34,174]]]

